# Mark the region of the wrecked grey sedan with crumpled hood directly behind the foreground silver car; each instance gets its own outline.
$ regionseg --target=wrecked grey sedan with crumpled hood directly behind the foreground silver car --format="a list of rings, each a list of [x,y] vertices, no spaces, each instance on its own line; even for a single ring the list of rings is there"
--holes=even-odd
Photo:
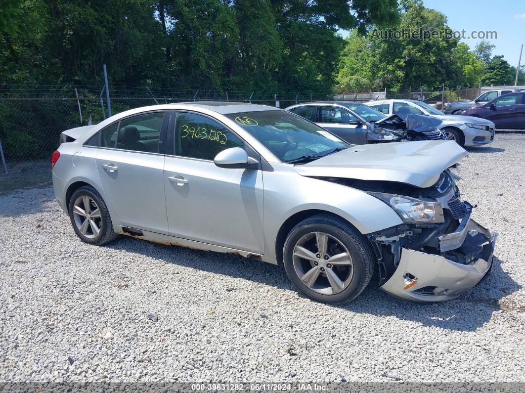
[[[305,102],[286,110],[356,145],[447,139],[446,134],[438,129],[442,123],[439,119],[416,114],[387,116],[355,102]]]

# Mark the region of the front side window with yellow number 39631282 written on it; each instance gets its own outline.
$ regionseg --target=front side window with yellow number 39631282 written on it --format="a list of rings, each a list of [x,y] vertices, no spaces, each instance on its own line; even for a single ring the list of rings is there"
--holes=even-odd
[[[211,160],[230,147],[244,142],[224,125],[206,116],[179,112],[175,122],[175,155]]]

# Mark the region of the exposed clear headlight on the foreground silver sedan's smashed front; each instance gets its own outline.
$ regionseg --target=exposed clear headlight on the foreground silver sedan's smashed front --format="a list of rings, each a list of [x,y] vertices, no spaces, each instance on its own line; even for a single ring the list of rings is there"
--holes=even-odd
[[[370,193],[390,205],[405,222],[445,222],[443,205],[406,196]]]

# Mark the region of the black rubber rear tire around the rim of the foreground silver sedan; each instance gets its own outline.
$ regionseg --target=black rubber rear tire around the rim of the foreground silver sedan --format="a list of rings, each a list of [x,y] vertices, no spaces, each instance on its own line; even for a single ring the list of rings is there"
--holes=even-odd
[[[96,219],[97,225],[99,225],[100,228],[98,235],[93,231],[91,231],[91,235],[83,235],[77,225],[76,218],[81,220],[81,217],[79,217],[78,215],[77,217],[75,217],[75,214],[73,213],[75,201],[79,197],[83,196],[91,198],[91,200],[94,201],[94,203],[96,204],[96,207],[98,207],[98,209],[100,210],[100,218],[97,217]],[[71,219],[71,225],[73,226],[75,233],[77,233],[77,236],[83,242],[95,246],[101,246],[103,244],[109,243],[110,241],[117,239],[117,237],[119,236],[113,231],[113,223],[111,222],[111,216],[109,215],[109,210],[106,206],[106,203],[104,202],[104,199],[102,199],[98,191],[91,186],[83,186],[75,190],[73,195],[71,195],[71,199],[69,200],[68,211],[69,218]],[[87,236],[92,237],[90,238]]]

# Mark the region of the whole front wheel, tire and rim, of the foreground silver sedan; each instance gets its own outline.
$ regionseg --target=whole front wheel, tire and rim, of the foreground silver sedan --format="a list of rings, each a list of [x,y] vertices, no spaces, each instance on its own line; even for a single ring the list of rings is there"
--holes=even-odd
[[[323,303],[355,299],[373,273],[367,240],[348,223],[330,215],[307,218],[290,231],[283,263],[297,289]]]

